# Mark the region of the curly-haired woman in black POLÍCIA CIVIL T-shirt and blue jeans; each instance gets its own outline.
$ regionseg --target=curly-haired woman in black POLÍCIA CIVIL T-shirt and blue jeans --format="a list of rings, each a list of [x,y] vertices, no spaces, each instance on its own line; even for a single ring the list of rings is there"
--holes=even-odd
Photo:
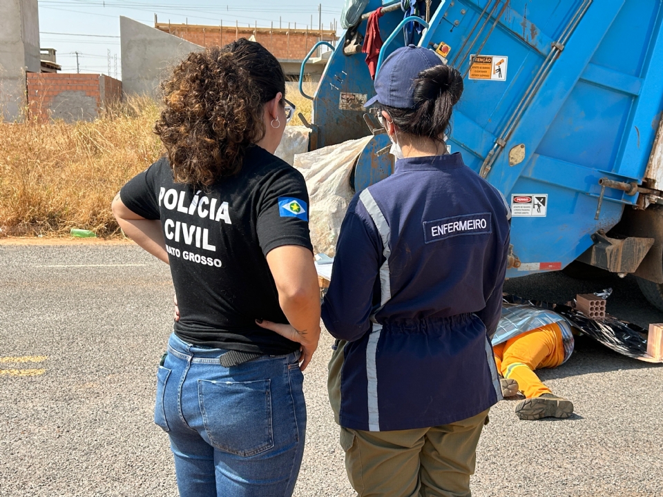
[[[289,496],[320,293],[304,179],[273,155],[294,112],[285,77],[240,39],[192,53],[162,87],[167,157],[113,201],[124,233],[170,264],[179,303],[155,422],[180,495]]]

